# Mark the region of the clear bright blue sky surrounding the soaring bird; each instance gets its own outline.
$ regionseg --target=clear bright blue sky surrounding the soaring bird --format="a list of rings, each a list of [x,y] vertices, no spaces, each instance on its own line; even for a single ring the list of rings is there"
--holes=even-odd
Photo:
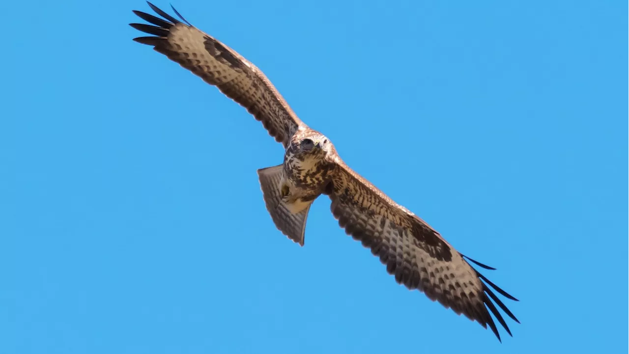
[[[484,273],[521,300],[506,300],[521,324],[500,344],[397,285],[326,198],[303,248],[282,236],[255,173],[281,145],[131,41],[143,1],[12,1],[1,353],[626,347],[629,3],[173,4],[264,70],[348,165],[498,268]]]

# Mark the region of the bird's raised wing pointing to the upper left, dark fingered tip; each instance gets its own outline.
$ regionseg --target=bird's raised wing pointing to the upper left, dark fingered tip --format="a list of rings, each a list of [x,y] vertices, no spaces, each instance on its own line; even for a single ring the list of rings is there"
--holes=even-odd
[[[216,38],[190,25],[174,8],[173,11],[183,22],[151,3],[148,6],[163,19],[133,11],[155,25],[131,23],[130,26],[136,30],[153,35],[133,40],[152,45],[157,52],[179,63],[208,84],[218,87],[227,97],[247,108],[255,119],[262,121],[269,135],[284,147],[297,128],[305,126],[255,65]]]

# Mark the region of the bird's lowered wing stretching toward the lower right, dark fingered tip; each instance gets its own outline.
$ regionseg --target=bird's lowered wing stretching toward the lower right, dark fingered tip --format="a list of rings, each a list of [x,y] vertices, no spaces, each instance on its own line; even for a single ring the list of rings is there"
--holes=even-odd
[[[437,231],[360,177],[340,158],[325,193],[332,200],[331,211],[340,226],[380,257],[387,272],[395,275],[399,284],[420,290],[433,301],[476,320],[484,328],[489,325],[498,340],[500,335],[489,311],[509,335],[511,331],[492,300],[520,323],[487,284],[503,296],[518,301],[515,297],[477,272],[464,259],[467,257],[457,252]],[[494,269],[467,259],[483,268]]]

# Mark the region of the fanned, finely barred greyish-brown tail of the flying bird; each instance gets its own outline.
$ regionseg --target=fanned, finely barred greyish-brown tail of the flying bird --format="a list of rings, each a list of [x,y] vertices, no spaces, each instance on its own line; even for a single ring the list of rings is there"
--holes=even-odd
[[[258,177],[264,202],[277,229],[303,246],[310,205],[299,213],[292,214],[286,203],[282,201],[282,165],[259,169]]]

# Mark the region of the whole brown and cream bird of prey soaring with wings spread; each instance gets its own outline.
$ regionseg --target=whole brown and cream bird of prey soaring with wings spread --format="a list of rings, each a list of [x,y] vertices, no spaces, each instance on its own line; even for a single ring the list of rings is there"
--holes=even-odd
[[[370,248],[396,282],[420,290],[432,301],[484,328],[489,326],[500,340],[493,314],[511,335],[494,302],[520,322],[490,287],[508,299],[518,300],[467,261],[494,268],[457,252],[425,221],[345,165],[330,139],[301,121],[255,65],[192,26],[174,8],[179,19],[148,5],[162,18],[133,11],[151,24],[131,23],[136,30],[151,35],[133,40],[152,46],[218,87],[261,121],[269,135],[286,149],[280,165],[257,170],[265,206],[279,231],[303,246],[310,206],[325,194],[331,199],[330,209],[340,226]]]

